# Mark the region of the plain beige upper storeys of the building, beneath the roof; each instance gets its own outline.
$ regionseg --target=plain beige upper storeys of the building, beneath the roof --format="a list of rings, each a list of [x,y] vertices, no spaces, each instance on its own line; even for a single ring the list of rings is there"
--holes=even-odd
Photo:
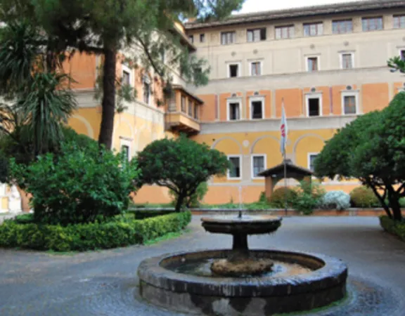
[[[372,8],[354,11],[366,2],[380,6],[364,5]],[[275,13],[241,15],[252,21],[234,18],[231,25],[229,21],[191,23],[186,25],[186,30],[193,39],[198,57],[209,62],[211,81],[231,77],[230,65],[238,67],[236,77],[252,77],[255,72],[252,69],[257,66],[262,76],[308,72],[311,58],[314,58],[317,71],[342,70],[347,63],[354,69],[385,67],[388,58],[400,55],[401,50],[405,53],[405,1],[362,1],[359,4],[342,4],[347,12],[335,14],[326,9],[316,13],[315,8],[336,8],[338,5],[315,7],[309,12],[302,9],[300,15],[304,16],[295,16],[297,10],[279,14],[281,18],[271,18]],[[383,8],[383,4],[390,6]],[[266,16],[269,16],[267,20]],[[255,22],[255,17],[256,20],[261,17],[261,21]],[[342,24],[343,21],[348,22],[348,26]],[[255,29],[262,29],[262,39],[259,31],[252,35],[250,31]],[[226,37],[221,35],[225,32],[234,32],[229,44],[221,39]],[[280,38],[281,32],[289,38]],[[258,40],[248,41],[252,37]],[[257,64],[252,65],[252,62]]]

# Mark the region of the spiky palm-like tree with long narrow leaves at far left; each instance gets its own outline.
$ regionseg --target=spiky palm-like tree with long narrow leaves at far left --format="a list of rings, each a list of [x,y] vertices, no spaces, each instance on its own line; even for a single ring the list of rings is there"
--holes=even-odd
[[[26,160],[59,147],[77,105],[58,53],[46,41],[24,20],[0,33],[0,96],[8,101],[0,105],[0,134]]]

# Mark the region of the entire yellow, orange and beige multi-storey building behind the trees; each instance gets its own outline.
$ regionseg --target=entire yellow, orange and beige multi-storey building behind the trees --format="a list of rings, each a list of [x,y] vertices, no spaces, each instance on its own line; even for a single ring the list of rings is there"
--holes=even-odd
[[[138,91],[115,115],[113,148],[129,157],[148,143],[179,132],[224,152],[233,169],[212,178],[204,202],[255,202],[264,191],[257,173],[282,162],[281,108],[288,119],[287,158],[313,168],[316,154],[337,129],[358,115],[386,107],[404,88],[387,59],[405,58],[405,1],[365,1],[235,15],[222,22],[186,23],[184,42],[210,65],[210,82],[195,88],[174,73],[174,94],[158,102],[153,74],[117,64]],[[69,121],[98,138],[101,106],[94,100],[100,59],[75,55],[66,68],[77,81],[79,109]],[[295,185],[294,180],[288,180]],[[326,190],[350,192],[356,180],[326,180]],[[138,203],[169,202],[165,188],[143,187]]]

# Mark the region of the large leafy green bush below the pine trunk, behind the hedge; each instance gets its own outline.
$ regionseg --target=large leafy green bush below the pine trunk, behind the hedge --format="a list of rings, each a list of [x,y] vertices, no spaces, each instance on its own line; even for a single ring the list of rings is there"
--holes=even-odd
[[[135,162],[122,164],[120,154],[95,143],[84,149],[65,143],[58,156],[44,154],[29,166],[12,159],[11,173],[32,194],[36,222],[60,225],[122,213],[139,175]]]

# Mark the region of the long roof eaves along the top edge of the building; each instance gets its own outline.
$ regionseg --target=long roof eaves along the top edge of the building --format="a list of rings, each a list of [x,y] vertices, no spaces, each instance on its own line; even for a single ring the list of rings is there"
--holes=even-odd
[[[287,18],[305,18],[317,15],[332,15],[353,13],[356,11],[375,11],[392,8],[404,8],[404,0],[369,0],[346,2],[343,4],[328,4],[323,6],[306,6],[277,11],[264,11],[232,15],[230,18],[213,22],[188,22],[184,25],[186,30],[221,27],[224,25],[241,25],[252,22],[267,22],[269,20],[283,20]]]

